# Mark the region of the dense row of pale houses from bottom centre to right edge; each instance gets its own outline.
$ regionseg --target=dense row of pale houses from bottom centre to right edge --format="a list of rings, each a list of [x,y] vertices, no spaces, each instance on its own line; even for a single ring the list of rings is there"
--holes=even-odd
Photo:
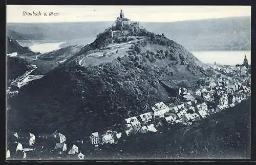
[[[157,122],[161,121],[163,125],[190,123],[205,119],[207,116],[218,113],[228,107],[240,103],[250,96],[250,87],[245,84],[249,78],[218,78],[210,79],[209,85],[191,92],[185,88],[179,89],[182,102],[177,105],[167,106],[163,102],[158,102],[151,107],[151,111],[130,117],[124,120],[123,132],[120,136],[131,136],[136,133],[157,132]],[[111,134],[111,132],[109,132]],[[103,144],[104,134],[94,132],[90,139],[92,145]],[[115,143],[112,133],[110,143]]]

